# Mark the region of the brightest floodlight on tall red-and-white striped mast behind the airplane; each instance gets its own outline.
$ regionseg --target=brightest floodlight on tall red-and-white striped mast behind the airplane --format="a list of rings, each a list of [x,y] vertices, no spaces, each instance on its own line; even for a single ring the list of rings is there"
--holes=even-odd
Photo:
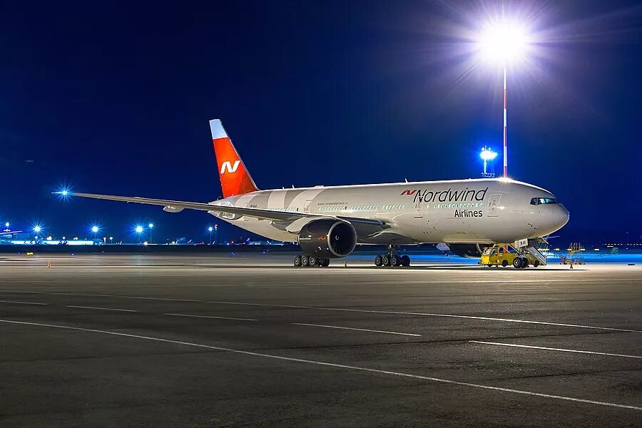
[[[506,68],[528,55],[529,40],[526,27],[517,22],[497,21],[487,24],[477,36],[477,51],[484,61],[499,64],[504,69],[504,178],[508,177],[506,148]]]

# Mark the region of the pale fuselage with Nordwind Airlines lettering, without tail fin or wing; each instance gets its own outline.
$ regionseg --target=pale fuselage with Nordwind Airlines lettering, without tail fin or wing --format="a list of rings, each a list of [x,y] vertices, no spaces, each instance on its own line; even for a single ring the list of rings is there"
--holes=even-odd
[[[514,180],[471,179],[258,190],[213,205],[383,220],[388,228],[359,243],[512,243],[559,230],[569,213],[548,191]],[[212,212],[222,220],[274,240],[297,234],[272,220]]]

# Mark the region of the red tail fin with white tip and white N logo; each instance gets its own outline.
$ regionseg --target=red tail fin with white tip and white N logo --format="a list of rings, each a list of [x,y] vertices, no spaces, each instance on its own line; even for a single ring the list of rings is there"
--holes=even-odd
[[[220,119],[210,121],[212,139],[214,141],[214,153],[218,163],[218,176],[220,187],[223,189],[223,198],[258,190],[254,180],[250,177],[243,160],[238,156],[232,141],[223,129]]]

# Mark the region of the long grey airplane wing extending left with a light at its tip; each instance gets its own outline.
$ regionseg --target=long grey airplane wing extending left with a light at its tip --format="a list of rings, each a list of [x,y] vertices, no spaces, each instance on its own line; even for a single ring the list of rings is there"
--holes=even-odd
[[[277,211],[277,210],[265,210],[261,208],[247,208],[247,207],[235,207],[232,205],[218,205],[217,203],[200,203],[200,202],[188,202],[183,200],[167,200],[167,199],[153,199],[153,198],[140,198],[138,196],[116,196],[116,195],[100,195],[97,193],[69,193],[69,196],[79,196],[81,198],[93,198],[93,199],[105,199],[105,200],[119,200],[121,202],[132,202],[132,203],[145,203],[149,205],[161,205],[164,206],[166,211],[178,213],[183,209],[188,210],[201,210],[201,211],[212,211],[215,213],[225,213],[225,214],[234,214],[234,215],[247,215],[248,217],[254,218],[265,218],[268,220],[273,220],[275,222],[286,222],[293,223],[295,220],[300,220],[302,218],[309,218],[310,220],[314,218],[340,218],[342,220],[347,220],[357,229],[357,235],[362,235],[367,233],[370,235],[374,230],[383,230],[387,228],[387,225],[384,221],[376,218],[352,218],[342,215],[332,216],[332,215],[320,215],[312,213],[299,213],[291,211]],[[301,225],[307,222],[299,222]],[[360,233],[360,230],[363,233]]]

